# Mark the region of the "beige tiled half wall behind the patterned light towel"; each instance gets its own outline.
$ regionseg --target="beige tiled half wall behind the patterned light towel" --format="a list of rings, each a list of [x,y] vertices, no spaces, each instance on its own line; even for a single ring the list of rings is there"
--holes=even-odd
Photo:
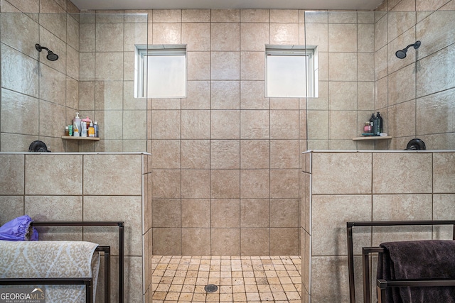
[[[124,300],[143,302],[151,285],[149,157],[140,153],[1,153],[0,225],[23,214],[35,221],[124,221]],[[41,228],[38,233],[40,240],[111,246],[111,298],[118,301],[118,228]],[[97,302],[104,296],[102,281]]]

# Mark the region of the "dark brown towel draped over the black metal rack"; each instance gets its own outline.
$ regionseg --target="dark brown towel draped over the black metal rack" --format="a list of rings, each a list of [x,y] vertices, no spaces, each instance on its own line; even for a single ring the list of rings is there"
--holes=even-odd
[[[455,241],[402,241],[380,244],[378,279],[455,279]],[[455,303],[455,287],[393,287],[386,302]]]

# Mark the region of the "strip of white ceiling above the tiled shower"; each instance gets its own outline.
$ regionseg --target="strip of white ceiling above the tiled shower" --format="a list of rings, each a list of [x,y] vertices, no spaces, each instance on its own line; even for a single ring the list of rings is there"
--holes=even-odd
[[[72,0],[94,9],[333,9],[373,10],[383,0]]]

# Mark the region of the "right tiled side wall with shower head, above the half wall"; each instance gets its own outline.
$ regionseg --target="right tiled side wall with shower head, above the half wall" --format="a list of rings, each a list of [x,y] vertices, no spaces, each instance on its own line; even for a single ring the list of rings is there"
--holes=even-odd
[[[455,2],[384,1],[375,17],[375,109],[385,117],[390,142],[381,149],[403,150],[421,138],[430,150],[454,150]],[[387,13],[385,13],[387,11]],[[405,59],[397,50],[420,40]],[[387,146],[388,144],[388,146]]]

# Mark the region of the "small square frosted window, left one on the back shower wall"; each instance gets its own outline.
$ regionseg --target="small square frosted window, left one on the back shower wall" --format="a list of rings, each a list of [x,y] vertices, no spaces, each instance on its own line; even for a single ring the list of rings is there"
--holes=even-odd
[[[186,97],[186,45],[136,45],[136,98]]]

